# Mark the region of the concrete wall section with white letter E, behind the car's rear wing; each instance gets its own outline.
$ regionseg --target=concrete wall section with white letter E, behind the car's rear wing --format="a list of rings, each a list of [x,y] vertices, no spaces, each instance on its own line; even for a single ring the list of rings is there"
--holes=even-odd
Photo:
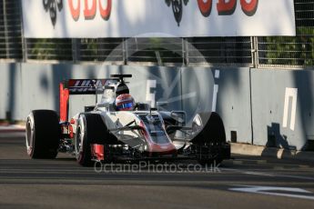
[[[111,74],[134,75],[128,81],[136,101],[154,103],[177,97],[164,108],[181,109],[179,68],[170,70],[145,66],[12,64],[0,65],[0,82],[4,90],[0,95],[0,118],[5,118],[7,112],[12,114],[13,120],[24,120],[34,109],[58,111],[60,82],[69,78],[107,78]],[[73,96],[70,114],[84,111],[84,106],[91,104],[95,104],[95,96]]]

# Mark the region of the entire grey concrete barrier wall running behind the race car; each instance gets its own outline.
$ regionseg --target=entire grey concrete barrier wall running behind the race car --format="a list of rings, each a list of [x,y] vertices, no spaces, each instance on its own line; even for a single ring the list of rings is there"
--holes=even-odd
[[[0,64],[0,118],[25,120],[32,109],[58,111],[61,81],[116,73],[133,75],[128,81],[137,102],[167,102],[161,108],[184,110],[189,122],[198,112],[217,111],[228,140],[233,131],[240,143],[300,150],[314,139],[314,72],[307,70]],[[95,97],[73,96],[71,101],[75,114],[95,104]]]

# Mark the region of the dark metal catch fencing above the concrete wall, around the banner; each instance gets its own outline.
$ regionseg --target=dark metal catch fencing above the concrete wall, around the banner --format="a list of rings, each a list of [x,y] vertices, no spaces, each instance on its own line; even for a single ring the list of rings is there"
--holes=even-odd
[[[296,36],[25,38],[21,0],[0,0],[1,62],[314,66],[314,1],[295,0]]]

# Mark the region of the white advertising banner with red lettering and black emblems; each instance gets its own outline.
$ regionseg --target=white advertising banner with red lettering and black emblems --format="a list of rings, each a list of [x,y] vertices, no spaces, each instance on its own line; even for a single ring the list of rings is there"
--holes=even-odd
[[[27,38],[296,35],[293,0],[23,0]]]

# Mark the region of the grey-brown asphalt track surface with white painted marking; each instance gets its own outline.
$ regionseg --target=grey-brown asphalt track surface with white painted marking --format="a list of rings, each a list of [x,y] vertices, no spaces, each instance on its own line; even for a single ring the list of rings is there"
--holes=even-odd
[[[23,133],[0,133],[0,208],[313,208],[313,162],[236,155],[207,171],[192,163],[96,173],[68,154],[31,160]]]

